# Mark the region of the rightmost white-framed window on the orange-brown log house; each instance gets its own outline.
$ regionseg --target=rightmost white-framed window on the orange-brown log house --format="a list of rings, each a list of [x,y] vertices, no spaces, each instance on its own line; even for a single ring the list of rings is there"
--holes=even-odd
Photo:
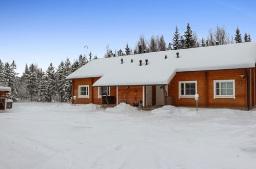
[[[235,98],[234,80],[213,80],[215,98]]]

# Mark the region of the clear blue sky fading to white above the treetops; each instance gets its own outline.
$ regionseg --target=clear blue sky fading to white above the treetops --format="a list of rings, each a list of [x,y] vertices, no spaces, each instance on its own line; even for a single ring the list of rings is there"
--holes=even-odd
[[[68,57],[91,51],[103,57],[133,49],[139,36],[164,35],[168,44],[175,26],[187,23],[199,38],[210,28],[225,26],[229,35],[239,27],[256,40],[256,1],[3,1],[0,0],[0,59],[14,60],[19,74],[25,64],[46,70]]]

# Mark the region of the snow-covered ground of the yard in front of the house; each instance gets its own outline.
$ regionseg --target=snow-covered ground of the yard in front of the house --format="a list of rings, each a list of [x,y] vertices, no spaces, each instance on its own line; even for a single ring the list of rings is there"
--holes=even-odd
[[[0,168],[255,167],[256,110],[13,103],[0,113]]]

